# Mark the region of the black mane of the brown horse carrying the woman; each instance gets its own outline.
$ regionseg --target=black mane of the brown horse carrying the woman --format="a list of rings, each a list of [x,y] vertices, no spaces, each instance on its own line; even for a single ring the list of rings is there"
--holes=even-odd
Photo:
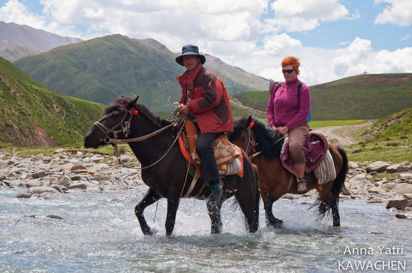
[[[233,133],[228,134],[229,140],[239,137],[242,129],[246,129],[243,127],[246,120],[247,118],[242,117],[233,122]],[[268,160],[279,159],[283,141],[276,143],[280,139],[277,132],[256,117],[252,117],[252,122],[254,123],[252,130],[255,133],[255,142],[257,143],[256,151],[262,151],[261,154]]]

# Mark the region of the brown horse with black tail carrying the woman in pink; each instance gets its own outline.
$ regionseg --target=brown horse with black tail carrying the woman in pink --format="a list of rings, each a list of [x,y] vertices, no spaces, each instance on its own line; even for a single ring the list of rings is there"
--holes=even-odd
[[[276,130],[255,117],[237,119],[233,126],[234,131],[227,134],[231,143],[244,149],[249,156],[254,152],[261,152],[255,157],[252,156],[252,163],[258,167],[258,185],[264,202],[266,223],[270,226],[280,225],[283,221],[273,215],[273,203],[286,193],[297,194],[298,190],[296,179],[293,184],[289,185],[293,174],[286,170],[280,161],[283,141],[279,141],[280,137]],[[339,193],[348,194],[344,184],[348,173],[348,158],[344,149],[334,146],[332,148],[339,161],[335,164],[336,178],[320,186],[313,172],[305,174],[304,177],[308,190],[315,188],[318,191],[317,200],[312,207],[318,206],[318,212],[322,218],[326,213],[330,215],[331,210],[333,226],[340,226]]]

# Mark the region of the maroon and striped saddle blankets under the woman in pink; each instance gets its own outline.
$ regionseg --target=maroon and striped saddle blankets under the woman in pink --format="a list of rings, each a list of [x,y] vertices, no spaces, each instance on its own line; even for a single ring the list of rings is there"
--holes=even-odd
[[[313,172],[317,178],[318,185],[322,186],[336,178],[334,165],[339,163],[339,159],[336,156],[338,151],[328,142],[323,134],[310,131],[304,149],[306,158],[305,173]],[[280,161],[286,170],[298,176],[295,167],[292,165],[287,136],[280,151]]]

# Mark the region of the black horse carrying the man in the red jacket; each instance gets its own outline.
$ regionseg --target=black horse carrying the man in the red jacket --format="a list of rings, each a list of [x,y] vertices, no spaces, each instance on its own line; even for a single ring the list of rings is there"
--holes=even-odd
[[[181,131],[179,126],[172,126],[172,122],[155,116],[146,106],[137,103],[137,99],[138,96],[136,99],[119,97],[108,105],[102,118],[86,133],[84,147],[97,149],[109,143],[113,146],[120,143],[129,144],[142,166],[142,180],[149,187],[135,207],[141,231],[145,235],[154,234],[154,230],[146,223],[143,211],[159,199],[166,198],[165,229],[166,235],[171,235],[179,200],[188,192],[193,177],[188,172],[186,159],[179,145],[174,145]],[[221,232],[221,205],[232,196],[235,196],[246,218],[247,230],[255,232],[258,229],[260,198],[257,173],[247,154],[243,152],[241,156],[244,160],[244,175],[227,175],[223,196],[219,200],[212,201],[209,198],[209,187],[205,187],[202,182],[196,183],[189,195],[192,198],[207,199],[212,234]],[[228,184],[233,185],[232,188],[236,191],[228,192]]]

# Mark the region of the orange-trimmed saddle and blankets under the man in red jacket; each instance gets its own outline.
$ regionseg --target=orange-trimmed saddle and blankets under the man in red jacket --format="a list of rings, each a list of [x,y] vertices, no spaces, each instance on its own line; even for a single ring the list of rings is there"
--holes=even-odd
[[[201,174],[200,156],[196,153],[196,141],[198,131],[196,126],[190,121],[185,123],[184,133],[179,135],[179,146],[182,155],[193,164]],[[215,151],[216,164],[220,175],[238,174],[243,177],[243,157],[242,150],[229,142],[225,133],[220,133],[212,143]]]

